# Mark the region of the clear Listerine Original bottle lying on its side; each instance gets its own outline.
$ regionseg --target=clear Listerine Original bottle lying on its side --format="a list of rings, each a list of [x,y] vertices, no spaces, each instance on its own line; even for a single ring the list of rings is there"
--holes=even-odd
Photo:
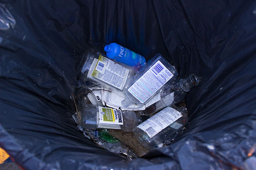
[[[122,129],[132,132],[141,120],[133,111],[121,111],[109,107],[84,104],[81,109],[81,126],[84,129]]]

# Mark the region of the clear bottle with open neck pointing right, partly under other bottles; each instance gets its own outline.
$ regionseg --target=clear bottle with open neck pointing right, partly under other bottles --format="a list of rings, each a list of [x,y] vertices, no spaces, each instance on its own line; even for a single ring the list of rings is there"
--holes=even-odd
[[[190,74],[185,79],[175,78],[170,83],[168,82],[159,91],[160,100],[154,104],[146,107],[143,111],[137,111],[137,114],[141,115],[151,115],[157,111],[167,107],[173,106],[176,103],[182,101],[188,91],[194,86],[199,84],[199,78],[196,74]]]

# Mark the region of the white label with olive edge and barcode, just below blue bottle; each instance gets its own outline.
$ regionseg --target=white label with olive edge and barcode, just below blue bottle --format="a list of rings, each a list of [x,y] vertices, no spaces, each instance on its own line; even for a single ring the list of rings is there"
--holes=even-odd
[[[94,77],[120,90],[123,89],[128,78],[129,70],[99,55],[99,59],[94,58],[88,72],[88,77]]]

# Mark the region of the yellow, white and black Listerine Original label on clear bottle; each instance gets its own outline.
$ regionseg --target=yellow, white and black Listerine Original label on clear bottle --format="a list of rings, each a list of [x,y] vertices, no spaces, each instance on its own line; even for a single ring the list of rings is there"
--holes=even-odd
[[[123,125],[121,110],[99,106],[99,124]]]

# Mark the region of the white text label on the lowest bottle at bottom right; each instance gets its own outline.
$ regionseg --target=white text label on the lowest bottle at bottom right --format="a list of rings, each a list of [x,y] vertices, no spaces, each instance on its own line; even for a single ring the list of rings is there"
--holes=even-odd
[[[180,112],[171,107],[166,107],[137,127],[146,132],[149,137],[153,137],[180,117],[182,117]]]

